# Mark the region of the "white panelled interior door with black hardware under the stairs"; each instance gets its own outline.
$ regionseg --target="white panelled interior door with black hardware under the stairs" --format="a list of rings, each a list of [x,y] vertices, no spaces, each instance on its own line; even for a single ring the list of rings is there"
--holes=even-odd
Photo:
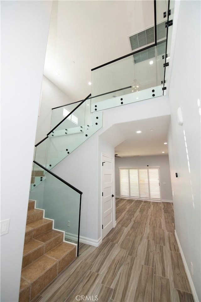
[[[102,239],[114,227],[113,158],[102,155]]]

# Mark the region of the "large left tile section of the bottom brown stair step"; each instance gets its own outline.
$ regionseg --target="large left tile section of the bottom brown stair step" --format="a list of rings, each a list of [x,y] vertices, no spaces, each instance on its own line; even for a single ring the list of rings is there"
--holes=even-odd
[[[43,288],[57,277],[57,275],[58,261],[47,257],[46,255],[41,256],[39,259],[22,269],[21,276],[31,284],[30,300],[39,294]]]

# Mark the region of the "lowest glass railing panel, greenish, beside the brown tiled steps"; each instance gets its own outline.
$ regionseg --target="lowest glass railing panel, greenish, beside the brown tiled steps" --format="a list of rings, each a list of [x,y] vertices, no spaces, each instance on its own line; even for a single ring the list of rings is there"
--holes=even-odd
[[[34,164],[34,170],[41,166]],[[36,208],[45,210],[45,218],[54,220],[54,229],[64,231],[66,241],[78,244],[80,193],[50,172],[45,175],[45,181],[30,192],[30,199],[36,200]]]

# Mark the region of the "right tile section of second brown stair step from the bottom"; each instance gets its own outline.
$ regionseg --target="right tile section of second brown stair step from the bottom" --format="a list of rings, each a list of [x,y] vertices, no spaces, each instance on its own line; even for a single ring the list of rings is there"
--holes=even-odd
[[[35,240],[45,244],[44,253],[46,254],[63,241],[63,232],[52,230],[36,237]]]

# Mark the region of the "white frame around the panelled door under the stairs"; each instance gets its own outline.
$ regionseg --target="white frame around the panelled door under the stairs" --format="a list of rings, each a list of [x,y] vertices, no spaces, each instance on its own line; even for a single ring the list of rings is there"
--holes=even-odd
[[[101,152],[101,192],[100,192],[100,200],[101,200],[101,204],[100,204],[100,210],[101,210],[101,219],[100,219],[100,229],[101,229],[101,239],[102,239],[102,222],[103,222],[103,204],[102,204],[102,192],[103,192],[103,184],[102,184],[102,173],[103,173],[103,169],[102,169],[102,162],[103,162],[103,156],[104,157],[108,157],[110,159],[112,159],[112,168],[113,168],[113,180],[112,180],[112,187],[113,187],[113,200],[112,200],[112,207],[113,207],[113,227],[116,226],[116,207],[115,207],[115,169],[114,169],[114,157],[111,157],[109,155],[106,155],[104,153]]]

